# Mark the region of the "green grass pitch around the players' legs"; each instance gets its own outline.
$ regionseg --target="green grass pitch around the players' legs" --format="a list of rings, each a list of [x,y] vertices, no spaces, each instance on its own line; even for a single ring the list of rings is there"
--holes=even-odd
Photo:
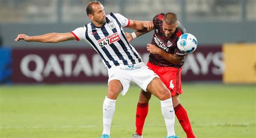
[[[255,86],[184,84],[180,96],[197,137],[255,137]],[[0,86],[0,137],[99,138],[106,85]],[[134,133],[139,87],[119,95],[111,137]],[[186,137],[176,120],[176,134]],[[160,102],[152,97],[144,137],[165,137]]]

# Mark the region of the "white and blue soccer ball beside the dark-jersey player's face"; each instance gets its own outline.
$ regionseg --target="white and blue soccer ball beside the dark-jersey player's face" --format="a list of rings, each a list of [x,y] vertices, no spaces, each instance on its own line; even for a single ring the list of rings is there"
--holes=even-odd
[[[190,33],[184,33],[178,38],[178,49],[185,53],[192,53],[197,49],[197,38]]]

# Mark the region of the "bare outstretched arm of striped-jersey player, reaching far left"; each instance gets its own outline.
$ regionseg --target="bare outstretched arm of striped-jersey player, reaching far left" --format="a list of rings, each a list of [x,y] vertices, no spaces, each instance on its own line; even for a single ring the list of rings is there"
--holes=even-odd
[[[41,36],[27,36],[26,34],[18,34],[14,40],[15,42],[24,40],[26,42],[58,43],[75,39],[76,37],[72,33],[47,33]]]

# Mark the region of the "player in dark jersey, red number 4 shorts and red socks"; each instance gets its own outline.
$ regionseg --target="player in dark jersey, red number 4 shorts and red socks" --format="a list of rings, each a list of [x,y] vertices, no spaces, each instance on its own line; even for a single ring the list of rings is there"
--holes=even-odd
[[[185,108],[180,104],[179,94],[183,93],[181,88],[181,68],[184,64],[185,53],[177,47],[177,41],[181,34],[186,33],[184,27],[178,22],[175,13],[160,13],[153,18],[154,34],[151,44],[147,44],[150,52],[147,66],[151,68],[169,88],[175,114],[183,127],[187,137],[196,137],[191,128]],[[135,31],[126,33],[127,39],[139,37],[149,31]],[[144,122],[149,109],[151,93],[140,92],[136,113],[136,133],[132,138],[141,138]]]

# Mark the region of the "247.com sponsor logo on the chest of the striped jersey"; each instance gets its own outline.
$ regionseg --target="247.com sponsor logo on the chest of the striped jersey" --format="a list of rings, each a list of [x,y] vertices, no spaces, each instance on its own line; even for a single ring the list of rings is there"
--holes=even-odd
[[[105,38],[97,40],[99,47],[104,47],[106,45],[112,44],[116,41],[120,40],[118,32],[110,34],[109,36],[106,36]]]

